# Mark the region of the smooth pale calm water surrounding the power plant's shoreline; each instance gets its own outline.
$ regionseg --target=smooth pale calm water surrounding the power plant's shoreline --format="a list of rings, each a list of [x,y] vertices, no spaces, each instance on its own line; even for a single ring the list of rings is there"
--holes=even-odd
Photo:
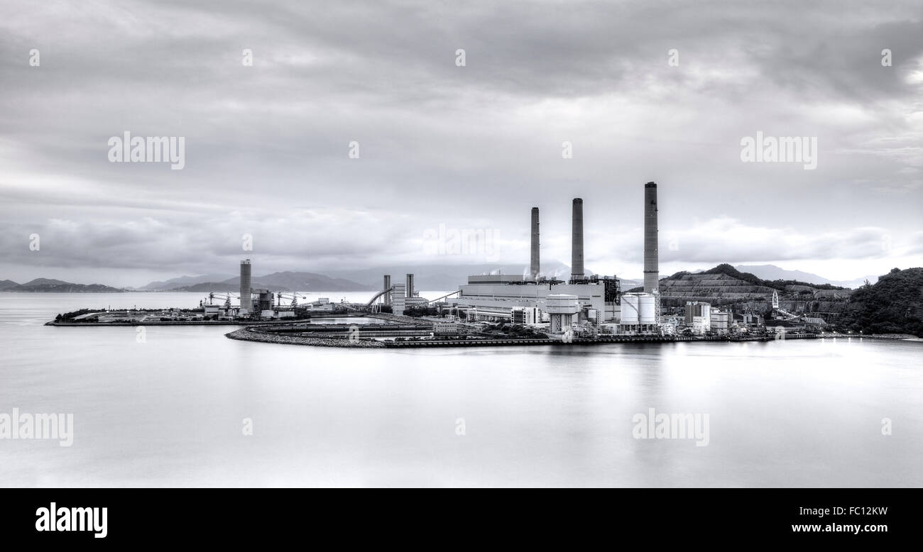
[[[0,294],[0,413],[76,426],[70,448],[0,439],[0,486],[923,486],[920,342],[370,351],[42,326],[200,295]],[[649,408],[709,414],[709,445],[633,438]]]

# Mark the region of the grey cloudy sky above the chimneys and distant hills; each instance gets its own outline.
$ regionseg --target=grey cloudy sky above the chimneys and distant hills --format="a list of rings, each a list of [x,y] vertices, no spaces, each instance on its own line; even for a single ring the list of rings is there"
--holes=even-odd
[[[923,266],[923,4],[0,0],[0,279],[568,263],[571,198],[640,278],[648,181],[663,274]]]

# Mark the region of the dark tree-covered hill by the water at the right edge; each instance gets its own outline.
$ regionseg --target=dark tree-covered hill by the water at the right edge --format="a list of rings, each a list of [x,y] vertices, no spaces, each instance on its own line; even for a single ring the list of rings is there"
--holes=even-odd
[[[923,337],[923,268],[893,269],[850,297],[838,326]]]

